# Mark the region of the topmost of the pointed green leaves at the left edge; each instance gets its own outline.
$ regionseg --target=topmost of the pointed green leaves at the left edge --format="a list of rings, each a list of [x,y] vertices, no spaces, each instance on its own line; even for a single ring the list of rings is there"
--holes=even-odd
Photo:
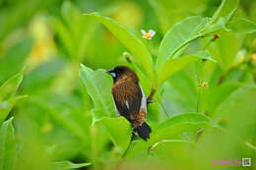
[[[24,70],[7,80],[0,86],[0,100],[7,100],[13,97],[23,81]]]

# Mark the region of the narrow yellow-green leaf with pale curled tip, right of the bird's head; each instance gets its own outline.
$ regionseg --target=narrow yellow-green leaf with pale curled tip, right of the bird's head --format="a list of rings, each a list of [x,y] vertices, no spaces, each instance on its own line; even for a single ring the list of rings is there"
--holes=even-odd
[[[168,59],[163,63],[158,72],[158,86],[162,85],[171,75],[182,70],[186,66],[198,61],[199,59],[212,59],[206,51],[199,51],[197,54],[188,55],[176,59]]]

